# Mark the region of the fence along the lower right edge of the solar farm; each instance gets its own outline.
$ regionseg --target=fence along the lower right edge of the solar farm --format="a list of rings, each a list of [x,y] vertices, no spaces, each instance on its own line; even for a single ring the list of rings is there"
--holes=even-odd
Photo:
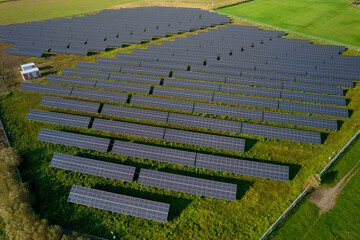
[[[333,164],[334,162],[340,157],[340,155],[346,150],[347,147],[359,136],[360,130],[355,133],[355,135],[345,144],[345,146],[336,154],[336,156],[321,170],[319,176],[321,177]],[[278,219],[268,228],[268,230],[259,238],[259,240],[264,240],[269,234],[279,225],[279,223],[289,214],[289,212],[298,204],[303,197],[309,192],[311,189],[310,185],[302,191],[299,196],[290,204],[290,206],[280,215]]]

